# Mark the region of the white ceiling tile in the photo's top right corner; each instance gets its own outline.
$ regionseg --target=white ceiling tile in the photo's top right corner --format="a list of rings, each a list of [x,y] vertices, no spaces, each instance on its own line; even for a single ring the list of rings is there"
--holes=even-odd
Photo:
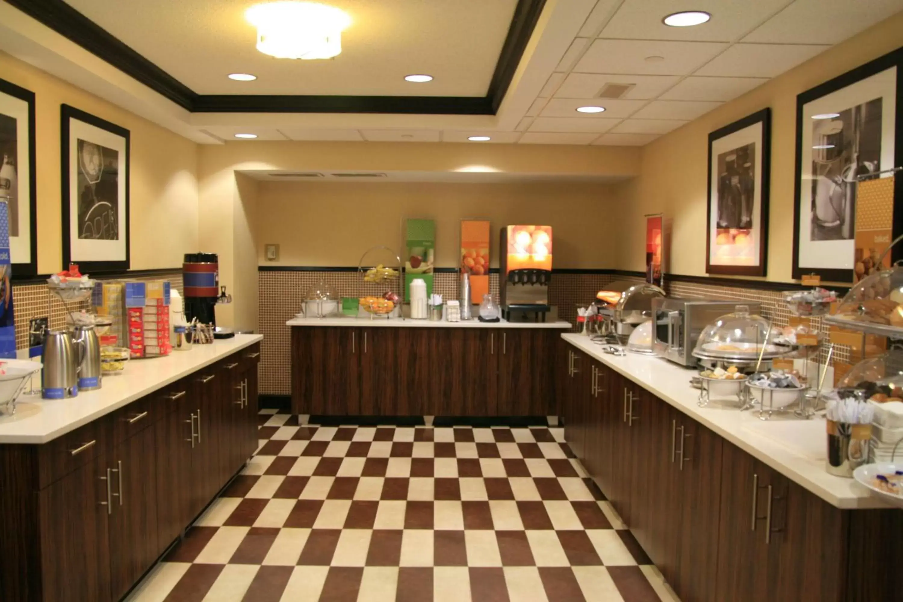
[[[836,44],[903,10],[903,0],[796,0],[743,42]]]

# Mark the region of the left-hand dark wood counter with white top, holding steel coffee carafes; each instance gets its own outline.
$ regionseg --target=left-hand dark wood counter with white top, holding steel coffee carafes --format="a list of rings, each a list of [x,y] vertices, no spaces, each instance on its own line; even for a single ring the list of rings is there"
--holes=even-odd
[[[260,336],[0,419],[0,599],[123,597],[257,447]]]

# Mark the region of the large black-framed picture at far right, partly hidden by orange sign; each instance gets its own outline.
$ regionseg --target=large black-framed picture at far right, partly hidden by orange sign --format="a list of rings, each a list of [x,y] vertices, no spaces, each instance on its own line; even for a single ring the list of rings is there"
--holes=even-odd
[[[857,182],[870,174],[891,177],[888,170],[899,164],[901,58],[903,49],[893,51],[796,97],[796,279],[816,273],[852,282]],[[894,236],[901,233],[900,209],[895,203]]]

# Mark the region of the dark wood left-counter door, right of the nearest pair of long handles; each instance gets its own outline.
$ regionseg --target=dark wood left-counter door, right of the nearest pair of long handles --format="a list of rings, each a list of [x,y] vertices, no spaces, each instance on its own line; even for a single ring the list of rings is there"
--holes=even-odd
[[[110,590],[123,597],[162,551],[157,541],[154,429],[145,428],[109,455],[114,492],[109,522]]]

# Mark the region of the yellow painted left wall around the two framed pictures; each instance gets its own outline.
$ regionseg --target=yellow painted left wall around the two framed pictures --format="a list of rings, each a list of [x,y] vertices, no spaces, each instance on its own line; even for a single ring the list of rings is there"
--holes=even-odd
[[[5,52],[0,78],[35,94],[39,273],[62,267],[61,104],[131,132],[132,269],[181,267],[182,255],[198,248],[198,144]]]

